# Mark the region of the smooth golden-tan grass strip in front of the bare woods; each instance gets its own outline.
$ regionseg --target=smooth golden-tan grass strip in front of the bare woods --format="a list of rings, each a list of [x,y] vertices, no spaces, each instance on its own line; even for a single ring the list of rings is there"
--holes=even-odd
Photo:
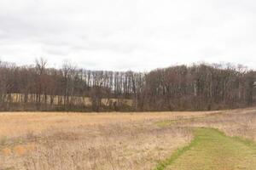
[[[73,127],[126,122],[157,122],[178,117],[203,116],[209,112],[143,112],[143,113],[73,113],[73,112],[2,112],[0,137],[14,138],[27,133],[40,134],[50,129],[65,131]]]

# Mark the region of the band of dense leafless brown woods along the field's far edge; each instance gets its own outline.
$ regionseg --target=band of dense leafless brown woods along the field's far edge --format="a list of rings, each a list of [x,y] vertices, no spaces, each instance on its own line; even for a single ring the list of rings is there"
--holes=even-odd
[[[254,104],[256,73],[233,65],[150,72],[0,62],[1,111],[199,111]]]

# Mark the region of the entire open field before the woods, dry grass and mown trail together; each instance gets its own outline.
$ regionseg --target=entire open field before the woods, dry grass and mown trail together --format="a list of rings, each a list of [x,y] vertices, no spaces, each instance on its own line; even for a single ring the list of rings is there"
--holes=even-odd
[[[0,124],[1,170],[253,170],[256,161],[254,108],[209,112],[3,112]]]

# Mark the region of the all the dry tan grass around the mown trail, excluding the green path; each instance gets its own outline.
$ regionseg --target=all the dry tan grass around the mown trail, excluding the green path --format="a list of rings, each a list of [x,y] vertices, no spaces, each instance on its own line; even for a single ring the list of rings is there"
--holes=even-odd
[[[190,127],[255,139],[254,112],[0,113],[0,169],[152,169],[189,143]]]

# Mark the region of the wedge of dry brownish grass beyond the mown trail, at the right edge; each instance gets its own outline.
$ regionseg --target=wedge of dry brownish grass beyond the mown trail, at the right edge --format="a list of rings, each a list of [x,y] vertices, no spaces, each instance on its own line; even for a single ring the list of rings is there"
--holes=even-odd
[[[229,136],[239,136],[256,141],[256,108],[222,111],[220,114],[199,119],[183,119],[172,123],[182,127],[213,127]]]

